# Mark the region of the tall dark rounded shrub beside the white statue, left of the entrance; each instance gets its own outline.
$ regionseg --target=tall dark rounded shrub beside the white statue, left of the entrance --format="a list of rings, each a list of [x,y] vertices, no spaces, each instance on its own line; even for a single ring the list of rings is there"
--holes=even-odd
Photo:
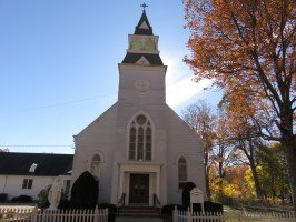
[[[88,172],[83,172],[73,183],[71,190],[71,208],[95,209],[98,202],[98,181]]]

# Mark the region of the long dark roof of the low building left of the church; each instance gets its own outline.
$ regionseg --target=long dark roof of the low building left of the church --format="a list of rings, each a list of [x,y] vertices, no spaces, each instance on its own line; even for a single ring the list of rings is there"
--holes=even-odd
[[[72,170],[72,154],[0,152],[0,174],[66,175]],[[29,172],[32,164],[34,171]]]

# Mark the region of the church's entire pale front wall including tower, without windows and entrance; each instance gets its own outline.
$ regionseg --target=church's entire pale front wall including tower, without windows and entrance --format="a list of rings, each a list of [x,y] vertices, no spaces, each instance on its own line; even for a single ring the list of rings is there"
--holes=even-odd
[[[76,137],[72,182],[86,170],[93,153],[103,157],[100,200],[117,203],[119,193],[118,164],[128,162],[128,124],[137,113],[149,115],[152,124],[152,161],[160,163],[161,204],[181,203],[178,190],[177,158],[188,161],[188,181],[205,191],[203,142],[196,133],[165,103],[165,65],[119,64],[118,102]],[[138,80],[149,82],[141,92]],[[140,164],[140,163],[139,163]],[[128,185],[125,181],[124,185]],[[127,191],[129,188],[124,188]]]

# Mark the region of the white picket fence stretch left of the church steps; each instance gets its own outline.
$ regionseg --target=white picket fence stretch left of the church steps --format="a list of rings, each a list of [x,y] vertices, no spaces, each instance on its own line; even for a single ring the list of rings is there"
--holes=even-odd
[[[108,209],[45,210],[0,209],[0,222],[108,222]]]

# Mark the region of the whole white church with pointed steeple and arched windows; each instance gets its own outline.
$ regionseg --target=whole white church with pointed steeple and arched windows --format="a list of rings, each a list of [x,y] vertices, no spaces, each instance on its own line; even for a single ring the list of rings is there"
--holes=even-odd
[[[166,71],[146,11],[118,64],[118,101],[75,135],[72,183],[85,171],[99,181],[99,202],[181,203],[194,182],[204,193],[203,141],[166,104]]]

